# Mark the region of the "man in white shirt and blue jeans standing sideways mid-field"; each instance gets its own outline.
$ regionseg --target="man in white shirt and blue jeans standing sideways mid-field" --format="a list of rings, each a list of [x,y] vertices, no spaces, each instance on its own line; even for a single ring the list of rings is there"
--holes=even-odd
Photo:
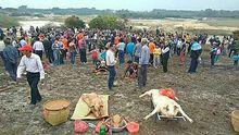
[[[113,46],[111,45],[111,42],[106,44],[106,48],[108,48],[108,51],[106,51],[106,65],[108,65],[109,72],[110,72],[109,78],[108,78],[108,88],[109,88],[109,90],[112,90],[112,87],[114,85],[115,75],[116,75],[116,71],[115,71],[116,60],[115,60],[112,47]]]

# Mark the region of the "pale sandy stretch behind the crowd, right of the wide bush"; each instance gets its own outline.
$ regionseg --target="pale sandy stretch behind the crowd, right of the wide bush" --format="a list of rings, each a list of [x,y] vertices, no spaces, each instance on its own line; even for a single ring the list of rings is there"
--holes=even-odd
[[[213,30],[217,33],[231,33],[238,30],[238,21],[232,19],[210,19],[204,21],[198,21],[193,19],[165,19],[165,20],[130,20],[129,24],[136,28],[163,28],[164,30],[175,30],[177,28],[184,28],[187,32],[191,30],[205,30],[209,33]],[[207,32],[209,30],[209,32]]]

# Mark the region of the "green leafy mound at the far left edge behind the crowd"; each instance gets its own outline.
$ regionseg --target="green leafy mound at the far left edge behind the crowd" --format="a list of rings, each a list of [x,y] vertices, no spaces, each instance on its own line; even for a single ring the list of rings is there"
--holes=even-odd
[[[0,27],[11,27],[11,26],[18,26],[18,22],[9,15],[0,13]]]

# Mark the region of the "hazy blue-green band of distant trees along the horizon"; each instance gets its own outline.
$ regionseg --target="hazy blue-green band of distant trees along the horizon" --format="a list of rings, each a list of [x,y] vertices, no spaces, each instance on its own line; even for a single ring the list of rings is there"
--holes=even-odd
[[[239,11],[225,11],[225,10],[201,10],[201,11],[184,11],[184,10],[161,10],[152,9],[152,11],[129,11],[129,10],[97,10],[96,8],[79,8],[79,9],[29,9],[22,5],[17,9],[5,8],[0,9],[0,12],[9,13],[12,16],[29,16],[41,14],[55,14],[55,15],[103,15],[114,14],[123,19],[165,19],[165,17],[181,17],[181,19],[202,19],[202,17],[234,17],[239,19]]]

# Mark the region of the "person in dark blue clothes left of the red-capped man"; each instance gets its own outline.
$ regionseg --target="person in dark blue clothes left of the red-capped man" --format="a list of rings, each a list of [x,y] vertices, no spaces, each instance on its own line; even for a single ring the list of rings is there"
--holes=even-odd
[[[16,82],[18,51],[11,45],[11,39],[9,37],[4,39],[4,45],[5,48],[3,49],[3,58],[5,61],[5,71],[8,71],[11,78]]]

